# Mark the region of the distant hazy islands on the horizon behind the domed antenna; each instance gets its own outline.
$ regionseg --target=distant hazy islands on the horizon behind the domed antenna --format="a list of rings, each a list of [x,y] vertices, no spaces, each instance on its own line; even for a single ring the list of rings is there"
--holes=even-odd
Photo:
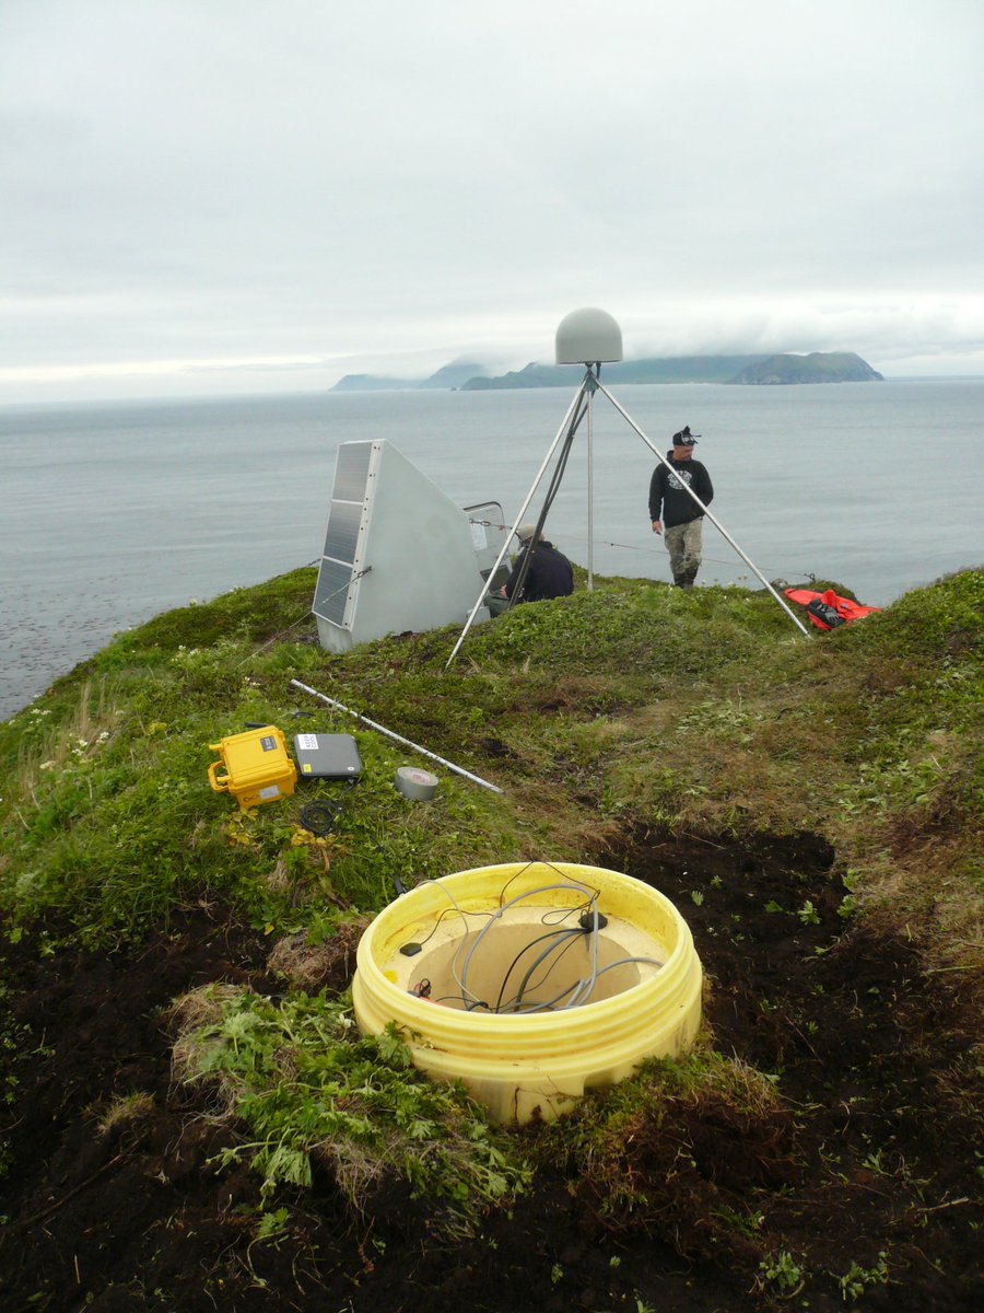
[[[345,374],[332,391],[391,391],[395,389],[458,389],[464,393],[516,387],[576,387],[580,365],[538,365],[492,376],[476,361],[455,361],[428,378],[386,378]],[[733,383],[777,387],[789,383],[880,383],[882,374],[853,351],[813,351],[808,356],[657,356],[602,365],[611,383]]]

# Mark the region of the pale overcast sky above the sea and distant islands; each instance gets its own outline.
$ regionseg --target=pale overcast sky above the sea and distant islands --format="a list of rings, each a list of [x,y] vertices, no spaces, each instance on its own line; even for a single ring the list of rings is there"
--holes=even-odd
[[[0,0],[0,402],[984,374],[981,0]]]

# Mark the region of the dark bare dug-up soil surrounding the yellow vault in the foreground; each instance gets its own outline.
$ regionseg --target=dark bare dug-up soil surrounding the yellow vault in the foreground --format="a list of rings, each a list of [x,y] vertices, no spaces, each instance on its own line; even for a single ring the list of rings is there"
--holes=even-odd
[[[206,981],[279,990],[261,936],[198,906],[136,953],[45,957],[35,939],[0,939],[10,1004],[0,1043],[17,1082],[3,1087],[0,1306],[828,1313],[857,1295],[895,1313],[984,1308],[959,1001],[921,976],[905,939],[838,915],[832,857],[808,834],[754,847],[639,834],[607,855],[684,913],[715,1046],[775,1074],[781,1138],[756,1138],[712,1103],[669,1108],[625,1149],[627,1169],[648,1174],[651,1216],[602,1213],[592,1183],[558,1165],[510,1216],[454,1245],[401,1195],[353,1220],[327,1180],[285,1197],[285,1232],[257,1241],[258,1179],[209,1165],[232,1132],[172,1085],[167,1012]],[[135,1092],[151,1098],[101,1130],[110,1100]],[[686,1148],[690,1176],[668,1171],[668,1145]],[[761,1224],[744,1246],[715,1249],[701,1216],[715,1200],[754,1204]],[[760,1271],[783,1250],[800,1289]],[[882,1254],[887,1284],[869,1275],[841,1288],[851,1264],[871,1274]]]

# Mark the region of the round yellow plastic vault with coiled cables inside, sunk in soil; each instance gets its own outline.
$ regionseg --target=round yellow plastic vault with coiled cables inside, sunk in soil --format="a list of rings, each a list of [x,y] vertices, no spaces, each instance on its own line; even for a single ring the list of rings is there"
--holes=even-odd
[[[686,922],[631,876],[510,863],[425,881],[358,945],[366,1035],[391,1022],[413,1062],[462,1081],[496,1121],[556,1117],[647,1057],[687,1049],[701,964]]]

